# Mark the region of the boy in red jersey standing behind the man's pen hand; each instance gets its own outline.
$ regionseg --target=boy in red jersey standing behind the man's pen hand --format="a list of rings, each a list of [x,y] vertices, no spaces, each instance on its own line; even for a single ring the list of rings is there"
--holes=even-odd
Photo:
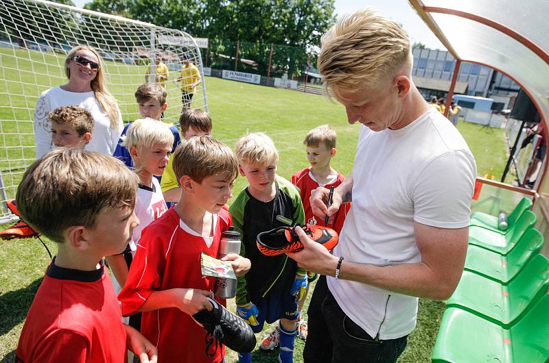
[[[336,188],[344,180],[345,177],[338,171],[330,166],[331,158],[336,155],[336,139],[337,134],[329,127],[329,125],[322,125],[315,127],[307,133],[303,144],[307,147],[307,160],[311,166],[298,171],[290,182],[299,188],[299,195],[303,202],[303,209],[305,210],[305,221],[309,225],[325,225],[321,218],[315,216],[309,203],[311,192],[318,187]],[[344,203],[341,205],[340,210],[330,218],[327,227],[333,228],[338,234],[341,233],[345,216],[351,208],[351,203]],[[309,276],[309,283],[314,281],[316,274],[311,278]],[[309,288],[307,286],[307,292]],[[306,293],[305,293],[306,296]],[[307,322],[301,317],[301,309],[303,308],[303,302],[299,304],[299,320],[298,320],[298,336],[305,340],[307,338]]]

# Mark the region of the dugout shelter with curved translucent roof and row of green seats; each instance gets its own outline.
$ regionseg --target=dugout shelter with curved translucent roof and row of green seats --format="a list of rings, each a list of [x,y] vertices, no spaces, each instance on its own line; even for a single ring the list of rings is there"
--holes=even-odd
[[[456,58],[446,112],[461,62],[474,62],[517,82],[537,109],[534,122],[547,125],[547,1],[409,1]],[[546,127],[541,136],[548,139]],[[432,362],[549,361],[547,168],[545,157],[533,189],[477,178],[465,269],[446,301]],[[501,211],[509,230],[499,228]]]

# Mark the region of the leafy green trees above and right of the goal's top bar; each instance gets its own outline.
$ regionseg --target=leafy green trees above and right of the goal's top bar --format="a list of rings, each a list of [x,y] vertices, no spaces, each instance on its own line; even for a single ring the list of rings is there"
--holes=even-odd
[[[255,61],[239,70],[265,75],[272,43],[272,71],[290,77],[306,69],[305,48],[318,47],[336,21],[334,0],[93,0],[85,8],[209,38],[214,67],[235,55],[238,42],[239,58]]]

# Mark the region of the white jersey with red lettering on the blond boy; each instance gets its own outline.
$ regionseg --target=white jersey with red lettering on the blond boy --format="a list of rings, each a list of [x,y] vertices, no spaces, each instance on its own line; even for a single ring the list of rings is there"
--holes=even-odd
[[[167,205],[158,179],[152,178],[152,188],[139,184],[135,201],[135,215],[139,218],[139,225],[133,229],[132,242],[130,242],[132,253],[137,249],[136,244],[141,238],[143,228],[165,212],[167,212]]]

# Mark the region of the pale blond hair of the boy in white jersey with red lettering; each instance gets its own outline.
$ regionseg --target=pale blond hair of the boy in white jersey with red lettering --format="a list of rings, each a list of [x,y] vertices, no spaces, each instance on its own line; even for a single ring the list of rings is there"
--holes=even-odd
[[[174,144],[174,134],[172,134],[170,126],[154,118],[135,120],[121,139],[122,145],[127,149],[132,146],[137,148],[153,147],[154,144],[171,147]]]

